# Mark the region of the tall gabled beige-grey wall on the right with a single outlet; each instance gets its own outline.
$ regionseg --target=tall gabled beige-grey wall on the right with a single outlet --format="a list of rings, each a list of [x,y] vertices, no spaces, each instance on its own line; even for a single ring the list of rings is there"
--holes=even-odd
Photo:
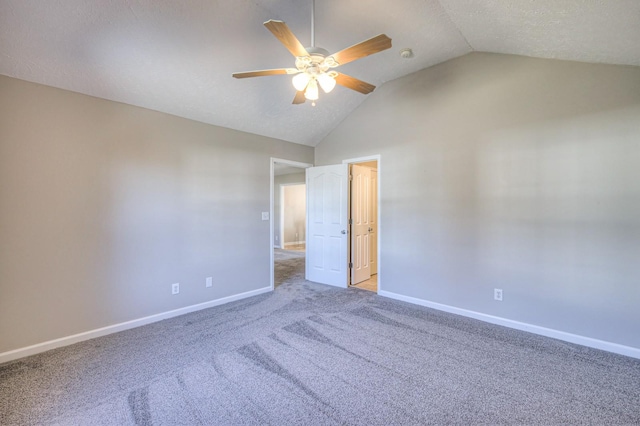
[[[640,348],[640,68],[472,53],[385,83],[315,159],[373,154],[385,290]]]

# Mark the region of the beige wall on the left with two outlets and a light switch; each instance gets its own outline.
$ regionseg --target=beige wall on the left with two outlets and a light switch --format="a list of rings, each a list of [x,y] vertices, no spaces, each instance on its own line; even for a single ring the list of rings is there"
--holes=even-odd
[[[0,353],[270,285],[271,157],[312,148],[4,76],[0,94]]]

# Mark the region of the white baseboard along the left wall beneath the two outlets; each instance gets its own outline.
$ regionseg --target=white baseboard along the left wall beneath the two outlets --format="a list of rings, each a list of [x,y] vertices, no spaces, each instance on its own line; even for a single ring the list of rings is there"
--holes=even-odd
[[[223,297],[221,299],[210,300],[208,302],[198,303],[197,305],[186,306],[184,308],[175,309],[173,311],[150,315],[148,317],[122,322],[120,324],[114,324],[114,325],[98,328],[91,331],[85,331],[84,333],[78,333],[72,336],[61,337],[59,339],[49,340],[47,342],[38,343],[36,345],[27,346],[20,349],[14,349],[8,352],[2,352],[0,353],[0,364],[8,361],[13,361],[18,358],[23,358],[25,356],[35,355],[40,352],[45,352],[45,351],[59,348],[62,346],[72,345],[74,343],[82,342],[84,340],[94,339],[96,337],[117,333],[119,331],[129,330],[132,328],[140,327],[142,325],[147,325],[154,322],[162,321],[164,319],[169,319],[169,318],[177,317],[179,315],[184,315],[184,314],[199,311],[202,309],[211,308],[213,306],[223,305],[225,303],[233,302],[240,299],[245,299],[247,297],[257,296],[259,294],[267,293],[269,291],[271,291],[271,287],[264,287],[258,290],[252,290],[245,293],[234,294],[232,296]]]

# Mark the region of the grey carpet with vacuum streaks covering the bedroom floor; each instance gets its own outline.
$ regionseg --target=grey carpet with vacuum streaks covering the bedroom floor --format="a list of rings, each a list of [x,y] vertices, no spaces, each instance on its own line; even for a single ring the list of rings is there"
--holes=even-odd
[[[2,365],[0,424],[640,424],[639,360],[297,276]]]

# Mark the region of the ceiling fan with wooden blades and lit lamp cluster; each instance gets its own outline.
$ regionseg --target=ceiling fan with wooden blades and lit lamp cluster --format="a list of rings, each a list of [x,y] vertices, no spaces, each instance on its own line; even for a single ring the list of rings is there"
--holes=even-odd
[[[333,68],[389,49],[391,47],[391,39],[385,34],[380,34],[337,53],[329,54],[327,50],[315,46],[314,13],[315,0],[312,1],[311,5],[311,47],[304,47],[284,22],[269,20],[264,23],[264,26],[295,56],[295,68],[238,72],[232,74],[233,77],[295,75],[292,80],[296,89],[293,104],[302,104],[305,99],[309,99],[312,101],[312,105],[315,106],[315,101],[318,99],[318,86],[325,93],[332,91],[336,84],[365,95],[373,92],[376,86],[334,71]]]

